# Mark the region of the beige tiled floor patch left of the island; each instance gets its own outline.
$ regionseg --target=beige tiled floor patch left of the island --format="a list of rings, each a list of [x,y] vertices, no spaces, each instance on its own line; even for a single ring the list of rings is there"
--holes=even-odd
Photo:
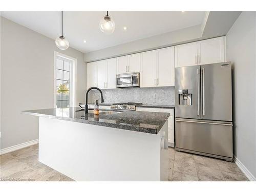
[[[38,162],[38,144],[0,156],[0,181],[73,181]]]

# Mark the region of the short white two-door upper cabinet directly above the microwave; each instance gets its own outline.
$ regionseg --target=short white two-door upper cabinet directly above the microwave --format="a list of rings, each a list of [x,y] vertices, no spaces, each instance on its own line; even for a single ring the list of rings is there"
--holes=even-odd
[[[140,54],[117,57],[117,74],[140,72]]]

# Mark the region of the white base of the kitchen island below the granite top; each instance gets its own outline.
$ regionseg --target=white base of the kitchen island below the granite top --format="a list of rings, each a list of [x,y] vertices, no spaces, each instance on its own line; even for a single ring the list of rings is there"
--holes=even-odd
[[[167,121],[149,134],[39,117],[39,161],[76,181],[167,181],[167,131]]]

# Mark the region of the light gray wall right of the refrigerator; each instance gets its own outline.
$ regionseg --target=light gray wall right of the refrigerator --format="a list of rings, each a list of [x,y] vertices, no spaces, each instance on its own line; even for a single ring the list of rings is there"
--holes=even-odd
[[[233,71],[234,155],[256,177],[256,12],[242,12],[226,35]]]

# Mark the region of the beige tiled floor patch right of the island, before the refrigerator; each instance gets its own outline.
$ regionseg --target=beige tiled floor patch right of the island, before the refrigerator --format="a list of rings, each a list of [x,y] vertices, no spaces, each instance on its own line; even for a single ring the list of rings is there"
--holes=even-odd
[[[234,162],[169,148],[169,181],[248,181]]]

